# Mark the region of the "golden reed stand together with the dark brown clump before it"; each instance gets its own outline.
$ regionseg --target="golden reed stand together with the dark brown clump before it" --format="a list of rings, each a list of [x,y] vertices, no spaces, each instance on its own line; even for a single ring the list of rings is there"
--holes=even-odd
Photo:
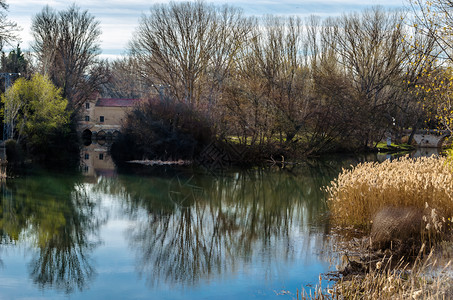
[[[333,223],[371,232],[371,248],[417,254],[448,240],[453,219],[453,167],[444,157],[363,163],[326,188]]]

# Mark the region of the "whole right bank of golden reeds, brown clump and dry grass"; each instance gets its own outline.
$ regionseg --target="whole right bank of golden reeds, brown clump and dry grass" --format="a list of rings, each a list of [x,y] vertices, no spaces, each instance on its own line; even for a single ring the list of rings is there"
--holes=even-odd
[[[451,299],[452,174],[434,156],[343,170],[326,189],[332,221],[362,236],[337,235],[335,284],[297,299]]]

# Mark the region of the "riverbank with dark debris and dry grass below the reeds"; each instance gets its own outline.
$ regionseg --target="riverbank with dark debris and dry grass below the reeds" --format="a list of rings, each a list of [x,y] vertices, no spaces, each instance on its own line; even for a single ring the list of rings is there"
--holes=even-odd
[[[338,236],[336,237],[338,238]],[[453,243],[448,242],[428,251],[422,246],[414,257],[370,252],[369,238],[340,241],[343,255],[338,270],[324,275],[317,288],[297,292],[297,299],[452,299]],[[346,248],[345,248],[346,247]],[[347,249],[347,250],[346,250]],[[428,251],[428,252],[426,252]],[[333,284],[332,284],[333,283]]]

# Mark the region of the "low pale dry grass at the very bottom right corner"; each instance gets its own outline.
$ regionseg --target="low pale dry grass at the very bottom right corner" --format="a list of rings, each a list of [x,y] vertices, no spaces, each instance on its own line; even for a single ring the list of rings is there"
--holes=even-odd
[[[440,267],[432,253],[409,267],[403,260],[392,266],[383,258],[369,273],[342,278],[333,287],[297,293],[297,299],[451,299],[450,263]]]

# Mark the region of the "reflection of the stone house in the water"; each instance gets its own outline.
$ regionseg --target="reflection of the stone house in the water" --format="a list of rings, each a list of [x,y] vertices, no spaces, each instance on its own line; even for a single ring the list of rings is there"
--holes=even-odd
[[[115,164],[108,151],[109,147],[104,144],[92,143],[82,148],[81,167],[83,174],[88,177],[113,177],[116,175]]]

